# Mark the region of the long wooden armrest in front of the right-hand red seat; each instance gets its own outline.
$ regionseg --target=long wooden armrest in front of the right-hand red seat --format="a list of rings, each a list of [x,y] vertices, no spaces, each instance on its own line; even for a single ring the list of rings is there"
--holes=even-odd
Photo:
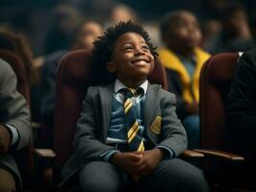
[[[219,150],[194,149],[193,151],[201,153],[205,156],[214,156],[214,157],[219,157],[219,158],[223,158],[226,160],[233,160],[233,161],[243,161],[244,160],[243,156],[226,153],[226,152],[222,152]]]

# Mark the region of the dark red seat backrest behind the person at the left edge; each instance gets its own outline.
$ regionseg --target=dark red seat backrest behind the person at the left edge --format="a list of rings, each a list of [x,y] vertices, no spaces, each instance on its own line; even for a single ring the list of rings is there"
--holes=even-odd
[[[12,66],[17,78],[17,90],[24,96],[30,106],[30,87],[25,64],[13,51],[5,49],[0,49],[0,58],[6,60]],[[15,155],[25,188],[26,186],[31,185],[31,180],[33,178],[34,162],[32,152],[33,143],[31,143],[29,147],[20,150]]]

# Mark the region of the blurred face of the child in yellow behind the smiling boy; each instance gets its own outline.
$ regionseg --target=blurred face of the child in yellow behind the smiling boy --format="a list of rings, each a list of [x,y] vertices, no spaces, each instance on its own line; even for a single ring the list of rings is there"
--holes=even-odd
[[[168,45],[193,48],[201,40],[197,19],[190,12],[180,12],[175,20],[170,21]]]

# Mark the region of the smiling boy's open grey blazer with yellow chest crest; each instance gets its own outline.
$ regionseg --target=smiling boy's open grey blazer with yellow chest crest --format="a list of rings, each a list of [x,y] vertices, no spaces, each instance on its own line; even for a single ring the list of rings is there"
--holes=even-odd
[[[114,84],[92,86],[83,102],[77,122],[73,147],[75,153],[62,171],[62,182],[80,170],[87,162],[101,160],[100,155],[114,149],[106,144],[112,114]],[[149,84],[144,103],[144,127],[149,145],[166,146],[179,156],[187,148],[186,132],[175,113],[175,96],[159,84]]]

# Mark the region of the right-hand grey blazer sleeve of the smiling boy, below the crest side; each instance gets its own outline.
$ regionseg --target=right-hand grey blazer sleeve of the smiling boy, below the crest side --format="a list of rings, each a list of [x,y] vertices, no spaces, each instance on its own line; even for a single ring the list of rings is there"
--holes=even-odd
[[[163,91],[164,95],[161,99],[162,111],[162,138],[163,141],[159,145],[166,146],[174,156],[179,156],[187,149],[187,134],[181,121],[176,115],[176,99],[171,93]]]

